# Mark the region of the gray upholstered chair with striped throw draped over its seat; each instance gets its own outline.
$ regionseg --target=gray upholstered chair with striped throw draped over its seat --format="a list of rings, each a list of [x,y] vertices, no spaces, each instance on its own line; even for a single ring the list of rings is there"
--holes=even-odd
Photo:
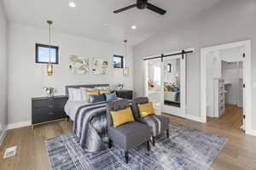
[[[159,116],[159,115],[150,115],[141,117],[140,111],[138,108],[138,104],[146,104],[149,100],[146,97],[141,97],[137,99],[132,100],[132,111],[134,114],[135,119],[138,122],[143,122],[147,124],[152,129],[152,140],[153,145],[155,144],[155,137],[158,136],[160,133],[166,132],[167,138],[169,138],[169,118],[165,116]]]

